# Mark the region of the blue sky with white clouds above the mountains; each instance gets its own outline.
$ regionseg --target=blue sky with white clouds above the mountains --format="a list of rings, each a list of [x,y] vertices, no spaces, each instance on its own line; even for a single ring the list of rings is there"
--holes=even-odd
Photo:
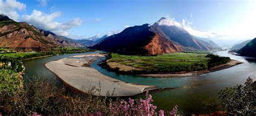
[[[0,0],[0,13],[73,39],[118,33],[161,17],[219,43],[256,37],[256,2],[245,0]]]

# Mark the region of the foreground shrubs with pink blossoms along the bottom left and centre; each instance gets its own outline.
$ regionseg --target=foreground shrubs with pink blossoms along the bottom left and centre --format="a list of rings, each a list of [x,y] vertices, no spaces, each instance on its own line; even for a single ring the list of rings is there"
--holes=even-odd
[[[10,86],[13,84],[10,83]],[[149,94],[145,99],[129,99],[127,102],[118,98],[97,97],[58,88],[56,83],[35,78],[25,84],[25,89],[2,91],[0,112],[4,115],[164,115],[164,111],[156,111],[157,106],[152,101]],[[176,114],[177,107],[166,114]]]

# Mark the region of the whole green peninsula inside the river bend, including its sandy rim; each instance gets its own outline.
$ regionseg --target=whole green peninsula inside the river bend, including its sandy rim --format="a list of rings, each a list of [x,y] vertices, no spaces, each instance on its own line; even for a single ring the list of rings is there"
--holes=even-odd
[[[157,56],[110,53],[100,66],[116,73],[146,77],[188,77],[233,67],[242,62],[206,52],[179,52]]]

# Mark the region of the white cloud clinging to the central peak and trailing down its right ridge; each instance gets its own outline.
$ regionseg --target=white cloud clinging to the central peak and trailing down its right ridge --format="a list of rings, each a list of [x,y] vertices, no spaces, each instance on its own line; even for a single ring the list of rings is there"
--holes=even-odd
[[[211,33],[211,32],[204,32],[204,31],[194,30],[190,26],[193,23],[192,22],[188,22],[185,19],[183,19],[182,22],[179,23],[174,18],[172,18],[172,19],[165,18],[165,19],[159,20],[157,23],[158,23],[158,25],[177,26],[177,27],[183,28],[188,33],[190,33],[192,35],[195,35],[197,37],[201,37],[201,38],[213,38],[216,35],[215,33]]]

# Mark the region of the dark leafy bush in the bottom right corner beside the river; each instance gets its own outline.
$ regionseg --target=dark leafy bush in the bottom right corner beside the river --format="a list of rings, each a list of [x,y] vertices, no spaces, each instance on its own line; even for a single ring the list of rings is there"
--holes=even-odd
[[[256,81],[249,77],[244,85],[221,90],[219,100],[228,113],[256,115]]]

